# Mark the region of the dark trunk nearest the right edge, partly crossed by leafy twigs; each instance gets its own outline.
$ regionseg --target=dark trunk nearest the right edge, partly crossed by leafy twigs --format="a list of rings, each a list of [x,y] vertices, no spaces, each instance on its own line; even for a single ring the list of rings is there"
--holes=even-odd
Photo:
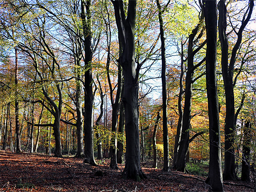
[[[250,183],[251,122],[247,121],[243,131],[241,180]]]

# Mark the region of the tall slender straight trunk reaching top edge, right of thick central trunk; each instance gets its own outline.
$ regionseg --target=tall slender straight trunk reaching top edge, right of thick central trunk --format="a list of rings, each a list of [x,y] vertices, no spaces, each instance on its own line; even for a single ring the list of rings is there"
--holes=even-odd
[[[161,60],[162,60],[162,105],[163,105],[163,144],[164,144],[164,167],[163,170],[170,171],[170,158],[169,158],[169,136],[168,136],[168,122],[167,122],[167,94],[166,94],[166,43],[165,33],[162,19],[162,8],[159,0],[156,0],[158,8],[158,19],[160,24],[160,36],[161,36]]]

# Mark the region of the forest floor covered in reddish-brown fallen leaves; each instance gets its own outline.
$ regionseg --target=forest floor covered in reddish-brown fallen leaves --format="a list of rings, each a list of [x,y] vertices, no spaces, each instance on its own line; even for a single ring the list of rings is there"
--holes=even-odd
[[[180,172],[162,172],[142,163],[147,179],[125,180],[119,170],[109,169],[109,159],[97,166],[83,159],[0,150],[0,192],[208,192],[206,178]],[[102,174],[103,173],[103,174]],[[229,182],[225,192],[253,192],[253,185]]]

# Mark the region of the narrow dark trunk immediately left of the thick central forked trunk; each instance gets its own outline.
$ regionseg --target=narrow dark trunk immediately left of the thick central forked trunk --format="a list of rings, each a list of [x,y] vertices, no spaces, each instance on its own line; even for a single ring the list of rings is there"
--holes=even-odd
[[[117,163],[123,163],[123,130],[124,130],[124,108],[123,103],[120,103],[120,115],[119,115],[119,140],[117,141]]]

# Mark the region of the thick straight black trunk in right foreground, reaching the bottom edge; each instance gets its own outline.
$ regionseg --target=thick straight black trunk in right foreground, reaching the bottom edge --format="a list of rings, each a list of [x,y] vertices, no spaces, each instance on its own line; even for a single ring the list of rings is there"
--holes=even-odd
[[[206,89],[209,113],[209,182],[212,191],[223,192],[221,153],[220,153],[220,126],[218,109],[218,92],[216,81],[217,56],[217,2],[203,0],[206,25]]]

